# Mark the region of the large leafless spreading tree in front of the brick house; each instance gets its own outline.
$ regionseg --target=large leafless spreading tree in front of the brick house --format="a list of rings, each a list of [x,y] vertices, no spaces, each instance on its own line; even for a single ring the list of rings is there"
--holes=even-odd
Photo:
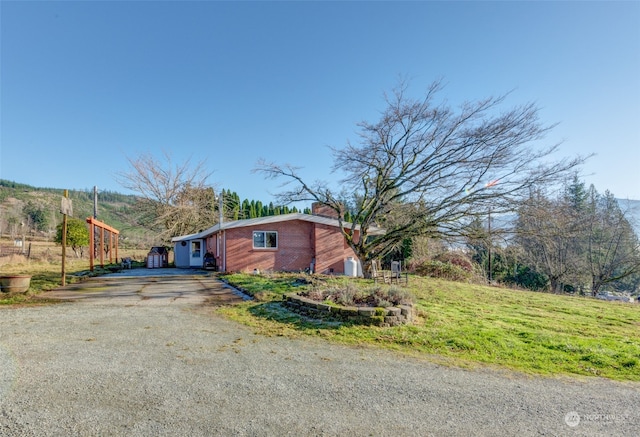
[[[363,264],[416,235],[456,235],[472,217],[512,211],[532,186],[549,184],[583,159],[552,161],[558,145],[536,147],[552,126],[544,126],[533,104],[498,112],[506,96],[468,102],[457,110],[436,103],[442,89],[434,82],[424,98],[407,95],[400,82],[379,121],[362,122],[359,144],[332,149],[334,171],[344,174],[343,189],[308,183],[299,168],[261,160],[256,171],[284,177],[294,187],[279,195],[283,203],[320,202],[332,208],[343,234]],[[383,227],[383,235],[374,235]]]

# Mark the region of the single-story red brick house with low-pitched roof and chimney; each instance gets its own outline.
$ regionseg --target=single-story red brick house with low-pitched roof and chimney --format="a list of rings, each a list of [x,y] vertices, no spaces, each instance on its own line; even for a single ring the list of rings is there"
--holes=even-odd
[[[207,255],[208,263],[213,257],[216,270],[224,272],[309,270],[338,275],[352,271],[357,257],[347,245],[340,223],[329,215],[329,208],[314,204],[312,211],[223,222],[175,237],[171,240],[175,265],[202,268]],[[350,223],[343,226],[351,228]],[[375,228],[369,232],[384,231]],[[356,227],[356,240],[357,233]]]

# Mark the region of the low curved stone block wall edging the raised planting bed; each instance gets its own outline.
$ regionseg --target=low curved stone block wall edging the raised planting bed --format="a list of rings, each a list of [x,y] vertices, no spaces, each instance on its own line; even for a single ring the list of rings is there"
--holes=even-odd
[[[309,317],[323,320],[375,325],[381,327],[398,326],[411,323],[413,308],[409,305],[397,307],[341,307],[290,293],[283,296],[284,305],[290,310]]]

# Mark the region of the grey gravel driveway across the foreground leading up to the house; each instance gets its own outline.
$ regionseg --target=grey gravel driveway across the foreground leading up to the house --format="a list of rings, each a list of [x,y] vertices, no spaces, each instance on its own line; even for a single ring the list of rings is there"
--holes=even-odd
[[[239,299],[206,276],[83,284],[0,309],[0,435],[639,434],[640,384],[263,337],[203,305]]]

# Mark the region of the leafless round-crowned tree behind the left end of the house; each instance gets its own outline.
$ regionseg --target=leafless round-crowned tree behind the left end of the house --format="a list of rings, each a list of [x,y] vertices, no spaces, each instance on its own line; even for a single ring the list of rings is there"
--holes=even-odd
[[[141,220],[161,239],[169,241],[216,222],[215,192],[204,161],[175,164],[166,151],[163,160],[149,153],[127,160],[131,169],[118,174],[118,182],[140,195],[136,208]]]

